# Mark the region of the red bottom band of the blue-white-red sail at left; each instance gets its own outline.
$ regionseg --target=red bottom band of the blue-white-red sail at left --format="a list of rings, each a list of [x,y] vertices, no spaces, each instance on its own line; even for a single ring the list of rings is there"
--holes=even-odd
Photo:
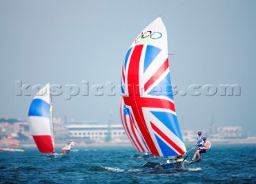
[[[33,139],[41,153],[54,152],[54,144],[50,135],[33,135]]]

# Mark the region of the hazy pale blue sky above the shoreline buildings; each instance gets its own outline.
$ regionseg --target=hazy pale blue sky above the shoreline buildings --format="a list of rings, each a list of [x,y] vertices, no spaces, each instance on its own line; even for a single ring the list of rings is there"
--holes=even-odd
[[[158,18],[166,25],[172,83],[178,91],[191,84],[212,84],[214,96],[176,95],[183,128],[241,126],[255,135],[256,2],[251,1],[0,1],[0,115],[28,119],[33,93],[17,96],[22,84],[59,84],[54,116],[120,123],[120,96],[66,100],[65,86],[82,81],[118,84],[122,62],[134,38]],[[18,83],[17,83],[18,84]],[[219,85],[238,84],[240,96],[221,96]],[[202,93],[205,93],[201,91]]]

